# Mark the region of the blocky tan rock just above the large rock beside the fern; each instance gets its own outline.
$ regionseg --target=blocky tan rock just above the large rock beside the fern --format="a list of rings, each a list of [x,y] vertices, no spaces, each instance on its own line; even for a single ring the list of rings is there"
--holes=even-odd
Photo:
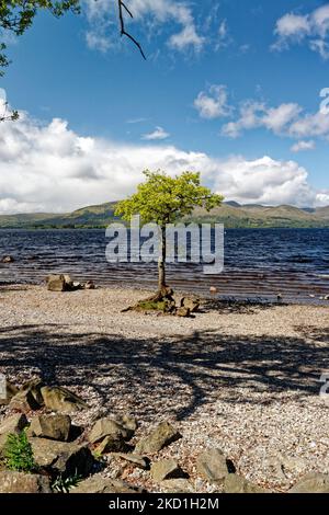
[[[39,415],[32,419],[29,435],[68,442],[70,428],[71,419],[69,415]]]

